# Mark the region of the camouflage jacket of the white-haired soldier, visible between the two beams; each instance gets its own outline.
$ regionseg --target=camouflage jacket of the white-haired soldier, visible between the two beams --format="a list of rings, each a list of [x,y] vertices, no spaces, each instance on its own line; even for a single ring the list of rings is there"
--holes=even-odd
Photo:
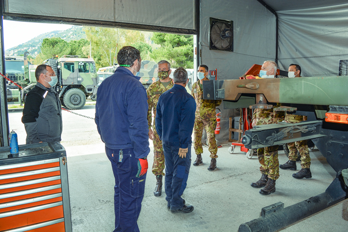
[[[254,110],[253,119],[256,118],[256,125],[267,125],[274,124],[284,120],[284,111],[274,111],[275,108],[279,107],[280,103],[273,106],[273,109],[256,109]]]

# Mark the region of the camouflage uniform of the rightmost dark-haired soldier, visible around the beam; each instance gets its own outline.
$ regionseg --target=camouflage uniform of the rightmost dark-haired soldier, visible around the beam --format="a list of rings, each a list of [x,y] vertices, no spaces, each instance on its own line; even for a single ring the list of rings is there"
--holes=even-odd
[[[288,123],[297,123],[304,121],[302,115],[286,114],[285,122]],[[287,147],[289,148],[289,160],[296,161],[297,151],[301,155],[301,168],[310,168],[311,166],[311,157],[309,156],[307,140],[297,141],[288,143]]]

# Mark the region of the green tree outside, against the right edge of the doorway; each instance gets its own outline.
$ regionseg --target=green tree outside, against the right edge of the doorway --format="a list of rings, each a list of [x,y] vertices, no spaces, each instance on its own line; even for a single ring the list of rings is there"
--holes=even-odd
[[[155,60],[168,60],[173,68],[193,69],[193,36],[156,32],[151,39],[161,45],[153,50],[150,57]]]

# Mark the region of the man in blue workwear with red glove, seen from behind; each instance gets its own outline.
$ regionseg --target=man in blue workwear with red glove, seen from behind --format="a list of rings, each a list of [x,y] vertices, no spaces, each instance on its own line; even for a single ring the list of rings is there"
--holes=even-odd
[[[117,54],[115,74],[98,87],[95,123],[115,177],[115,230],[139,231],[137,220],[148,169],[149,127],[146,90],[136,74],[138,49],[125,46]]]

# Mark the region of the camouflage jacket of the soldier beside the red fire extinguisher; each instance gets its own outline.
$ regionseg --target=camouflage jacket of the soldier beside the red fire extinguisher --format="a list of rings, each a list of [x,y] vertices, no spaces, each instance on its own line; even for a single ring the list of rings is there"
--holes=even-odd
[[[206,113],[215,115],[215,107],[221,104],[221,100],[204,100],[203,89],[199,87],[198,81],[193,83],[191,90],[191,95],[197,104],[196,115],[203,116]]]

